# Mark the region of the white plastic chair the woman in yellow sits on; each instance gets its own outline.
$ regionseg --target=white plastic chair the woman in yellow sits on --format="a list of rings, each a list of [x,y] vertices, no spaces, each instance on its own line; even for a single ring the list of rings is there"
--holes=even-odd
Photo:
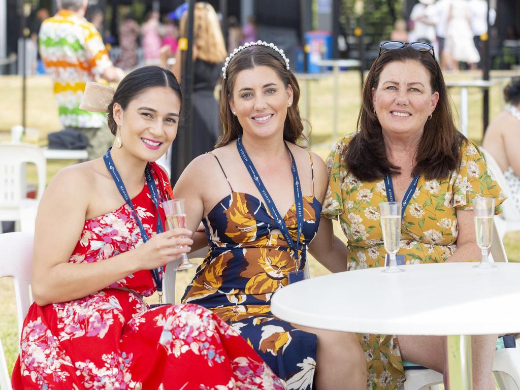
[[[495,220],[498,217],[495,217]],[[493,224],[493,241],[491,256],[496,263],[507,263],[504,245],[500,238],[497,225]],[[520,339],[517,339],[516,348],[497,349],[493,361],[493,374],[501,390],[520,389]],[[443,383],[443,374],[429,369],[405,370],[406,382],[404,390],[418,390],[422,387],[434,389]]]

